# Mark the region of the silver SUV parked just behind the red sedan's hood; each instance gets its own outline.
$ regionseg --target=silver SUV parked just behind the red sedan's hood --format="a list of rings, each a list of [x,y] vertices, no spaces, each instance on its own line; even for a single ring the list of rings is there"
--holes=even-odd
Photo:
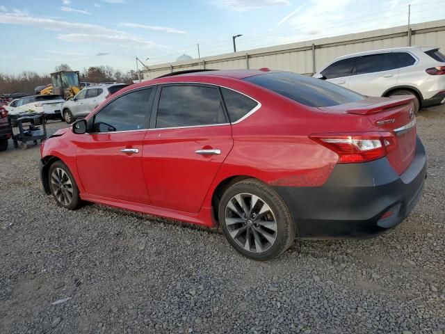
[[[76,118],[84,118],[96,106],[104,102],[106,97],[113,95],[118,90],[127,87],[127,84],[99,84],[83,88],[74,98],[63,104],[63,118],[71,124]]]

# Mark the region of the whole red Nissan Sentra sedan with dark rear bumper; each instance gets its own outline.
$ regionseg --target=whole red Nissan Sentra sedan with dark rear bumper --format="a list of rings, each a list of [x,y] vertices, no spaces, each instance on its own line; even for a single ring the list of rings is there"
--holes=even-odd
[[[62,207],[82,200],[214,227],[254,260],[296,237],[369,237],[426,178],[412,97],[269,70],[169,74],[120,90],[41,148]]]

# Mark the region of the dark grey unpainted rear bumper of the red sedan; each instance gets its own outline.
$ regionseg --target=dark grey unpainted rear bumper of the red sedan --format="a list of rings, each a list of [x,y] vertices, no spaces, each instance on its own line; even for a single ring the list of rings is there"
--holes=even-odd
[[[337,164],[320,187],[277,186],[299,237],[372,237],[401,223],[421,197],[426,153],[417,137],[416,155],[398,175],[386,158],[363,164]],[[385,212],[393,210],[388,218]]]

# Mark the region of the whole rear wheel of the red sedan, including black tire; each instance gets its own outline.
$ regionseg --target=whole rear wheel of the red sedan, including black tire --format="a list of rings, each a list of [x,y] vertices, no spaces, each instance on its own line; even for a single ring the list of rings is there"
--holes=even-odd
[[[236,196],[241,196],[245,204],[245,209],[250,209],[248,210],[250,211],[250,216],[247,216],[247,218],[238,218],[241,217],[239,213],[243,212],[243,207],[237,202]],[[249,196],[251,196],[250,202]],[[252,202],[254,202],[254,199],[252,196],[257,197],[257,200],[255,200],[256,204],[253,208]],[[231,201],[232,204],[230,204],[229,201]],[[238,203],[238,205],[236,205],[238,214],[234,214],[235,211],[230,208],[234,204],[234,201]],[[229,205],[229,207],[227,205]],[[266,214],[261,214],[264,205],[270,210],[267,210]],[[234,216],[230,218],[228,215]],[[264,217],[264,219],[261,219],[260,216]],[[258,180],[246,179],[230,186],[220,200],[218,218],[223,234],[227,241],[229,241],[229,244],[239,253],[252,260],[272,260],[284,253],[296,238],[295,225],[286,204],[270,186]],[[233,223],[231,220],[238,222]],[[244,220],[243,223],[239,222],[241,220]],[[229,223],[229,225],[227,225],[227,223]],[[270,225],[265,225],[265,223]],[[273,229],[269,229],[270,226],[273,226]],[[243,229],[245,229],[245,237],[243,237],[244,232],[237,232]],[[264,237],[264,232],[267,232],[268,238],[270,238],[270,236],[275,237],[275,241],[273,241],[273,243],[269,242],[269,239]],[[231,233],[232,235],[236,233],[236,237],[232,237]],[[249,233],[250,237],[248,236]],[[258,244],[261,246],[257,246],[257,241],[259,241]],[[261,244],[261,241],[265,241],[264,244]],[[245,244],[245,246],[241,246],[242,244]]]

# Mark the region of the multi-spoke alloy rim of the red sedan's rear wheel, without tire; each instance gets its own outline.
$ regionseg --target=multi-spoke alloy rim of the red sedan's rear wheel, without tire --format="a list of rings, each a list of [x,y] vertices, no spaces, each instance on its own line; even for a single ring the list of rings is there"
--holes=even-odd
[[[275,214],[252,193],[239,193],[227,202],[225,225],[236,244],[252,253],[264,253],[277,239]]]

